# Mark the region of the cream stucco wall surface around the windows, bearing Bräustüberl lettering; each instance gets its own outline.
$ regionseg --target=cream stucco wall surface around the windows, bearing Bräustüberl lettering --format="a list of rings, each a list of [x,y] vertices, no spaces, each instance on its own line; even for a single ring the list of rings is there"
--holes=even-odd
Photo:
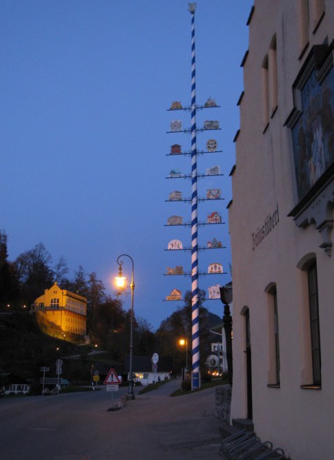
[[[334,3],[326,13],[313,44],[333,40]],[[254,429],[261,439],[282,446],[294,460],[326,460],[334,418],[332,349],[334,345],[334,254],[320,245],[315,226],[298,228],[289,212],[296,206],[291,131],[285,120],[294,107],[292,84],[305,61],[298,47],[298,2],[257,0],[250,21],[250,51],[244,65],[245,94],[240,105],[240,134],[232,176],[229,210],[233,267],[233,387],[231,418],[247,416],[244,307],[250,311],[252,348],[252,409]],[[278,107],[264,131],[262,118],[263,58],[276,34]],[[264,131],[264,132],[263,132]],[[279,221],[255,245],[252,234],[278,207]],[[308,331],[303,321],[305,280],[298,263],[313,253],[317,260],[320,311],[322,386],[302,389],[311,356],[305,351]],[[270,373],[268,300],[265,289],[277,287],[281,384],[268,388]]]

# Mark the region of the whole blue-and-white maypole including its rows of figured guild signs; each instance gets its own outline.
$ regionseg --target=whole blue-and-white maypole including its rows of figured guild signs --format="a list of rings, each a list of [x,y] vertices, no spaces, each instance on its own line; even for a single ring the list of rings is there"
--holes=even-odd
[[[191,199],[183,198],[180,190],[174,190],[169,194],[169,199],[166,201],[184,201],[191,203],[191,222],[183,222],[182,216],[173,215],[167,219],[167,226],[190,226],[191,227],[191,245],[185,248],[180,240],[172,240],[168,243],[168,251],[184,250],[191,251],[191,272],[183,272],[183,267],[177,265],[175,268],[167,267],[167,275],[185,275],[191,276],[191,356],[192,356],[192,369],[191,369],[191,389],[198,390],[201,386],[200,381],[200,303],[199,303],[199,290],[198,278],[200,275],[217,275],[223,273],[223,267],[220,263],[211,263],[208,266],[208,272],[199,272],[198,270],[198,252],[200,250],[216,250],[224,248],[221,241],[213,239],[208,241],[207,246],[198,246],[198,226],[206,225],[222,225],[221,216],[217,211],[211,212],[206,218],[205,222],[198,223],[198,203],[200,201],[208,201],[222,199],[220,197],[220,188],[209,188],[206,190],[205,198],[198,198],[198,177],[213,177],[220,176],[220,167],[213,166],[206,169],[206,173],[198,174],[197,171],[197,157],[203,153],[222,152],[217,150],[217,140],[208,139],[206,141],[206,151],[198,151],[196,146],[196,133],[198,131],[211,131],[219,129],[219,122],[217,120],[205,120],[204,127],[196,127],[196,111],[197,109],[211,109],[217,106],[213,98],[208,98],[204,105],[196,105],[196,83],[195,83],[195,9],[196,3],[189,3],[189,12],[191,14],[191,105],[182,107],[180,101],[174,101],[169,110],[184,110],[191,112],[191,128],[182,129],[181,120],[173,120],[171,122],[171,131],[167,133],[190,133],[191,134],[191,150],[182,151],[180,144],[171,146],[171,151],[168,155],[191,155],[191,173],[181,173],[180,171],[172,170],[169,173],[169,178],[191,178]],[[217,285],[208,288],[209,298],[204,300],[219,299],[219,289]],[[166,300],[182,300],[182,293],[179,289],[173,289],[171,294],[167,296]],[[185,298],[183,300],[186,300]],[[188,331],[185,331],[188,333]]]

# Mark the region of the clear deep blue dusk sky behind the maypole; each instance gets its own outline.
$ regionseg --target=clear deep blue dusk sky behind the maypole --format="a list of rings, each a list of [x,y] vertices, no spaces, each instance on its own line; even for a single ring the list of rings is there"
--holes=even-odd
[[[224,177],[201,179],[198,193],[222,188],[225,201],[204,202],[199,220],[213,210],[225,226],[199,229],[199,244],[228,241],[232,140],[239,129],[240,67],[248,47],[252,0],[198,0],[195,14],[197,103],[213,96],[220,109],[198,112],[198,126],[219,120],[208,137],[223,153],[198,157],[198,171],[219,164]],[[56,263],[64,256],[73,276],[79,265],[106,285],[116,259],[134,259],[134,309],[154,329],[180,302],[164,302],[191,279],[163,276],[167,266],[191,267],[189,252],[164,252],[171,239],[190,245],[189,228],[167,228],[167,218],[189,221],[189,204],[166,203],[169,192],[191,195],[191,182],[165,179],[188,173],[189,157],[167,157],[169,146],[190,149],[190,135],[167,134],[190,104],[191,14],[182,0],[1,0],[0,228],[10,260],[43,242]],[[230,249],[200,252],[200,271],[219,262],[229,271]],[[124,259],[130,276],[130,261]],[[230,274],[204,276],[200,287],[224,285]],[[130,296],[124,307],[130,307]],[[222,316],[219,300],[206,307]]]

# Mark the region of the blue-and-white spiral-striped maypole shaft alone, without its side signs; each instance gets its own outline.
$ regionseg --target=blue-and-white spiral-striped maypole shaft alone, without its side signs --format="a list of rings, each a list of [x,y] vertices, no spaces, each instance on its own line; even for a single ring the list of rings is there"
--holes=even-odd
[[[195,9],[191,13],[191,339],[192,373],[191,389],[200,388],[200,308],[198,305],[198,193],[196,150],[196,83],[195,83]]]

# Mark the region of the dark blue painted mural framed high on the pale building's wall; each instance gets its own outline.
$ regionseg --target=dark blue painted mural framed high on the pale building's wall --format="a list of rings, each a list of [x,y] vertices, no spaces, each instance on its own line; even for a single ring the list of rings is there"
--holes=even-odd
[[[302,87],[302,115],[292,129],[298,198],[334,162],[334,69],[320,85],[313,70]]]

